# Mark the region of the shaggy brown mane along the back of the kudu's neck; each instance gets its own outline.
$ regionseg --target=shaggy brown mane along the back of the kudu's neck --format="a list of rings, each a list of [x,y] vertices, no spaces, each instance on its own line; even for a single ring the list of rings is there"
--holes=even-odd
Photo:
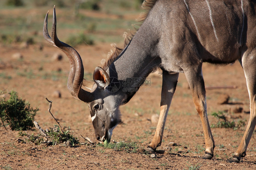
[[[140,17],[138,19],[136,19],[139,22],[139,24],[136,24],[136,25],[141,26],[141,24],[148,16],[149,11],[152,9],[152,7],[156,3],[156,1],[157,0],[144,0],[141,7],[142,7],[142,9],[146,10],[146,12],[141,13]],[[138,29],[135,28],[135,31],[138,31]],[[102,69],[107,70],[109,68],[110,64],[113,63],[113,61],[115,61],[115,59],[120,55],[120,53],[124,50],[124,48],[129,44],[129,42],[131,41],[133,36],[134,36],[134,34],[132,34],[131,32],[129,35],[127,32],[124,32],[124,34],[123,34],[124,47],[123,48],[117,47],[115,43],[111,44],[113,49],[107,54],[107,60],[102,59],[102,61],[101,61]]]

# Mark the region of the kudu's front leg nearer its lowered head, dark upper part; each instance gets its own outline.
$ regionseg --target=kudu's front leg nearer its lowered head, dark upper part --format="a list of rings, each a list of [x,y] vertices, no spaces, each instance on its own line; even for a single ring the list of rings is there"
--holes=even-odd
[[[147,151],[154,152],[158,146],[161,146],[163,139],[163,130],[166,122],[168,110],[171,105],[171,99],[173,97],[176,85],[178,82],[179,73],[169,74],[163,71],[163,84],[161,92],[161,110],[159,120],[157,123],[157,129],[154,134],[152,142],[148,145]]]

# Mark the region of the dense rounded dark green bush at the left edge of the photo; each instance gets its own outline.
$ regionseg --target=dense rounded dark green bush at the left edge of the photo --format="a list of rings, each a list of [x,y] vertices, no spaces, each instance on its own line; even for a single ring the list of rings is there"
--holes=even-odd
[[[12,130],[28,130],[32,129],[34,116],[39,110],[33,109],[25,100],[18,97],[18,93],[11,91],[10,99],[0,99],[0,117],[4,125],[6,122]]]

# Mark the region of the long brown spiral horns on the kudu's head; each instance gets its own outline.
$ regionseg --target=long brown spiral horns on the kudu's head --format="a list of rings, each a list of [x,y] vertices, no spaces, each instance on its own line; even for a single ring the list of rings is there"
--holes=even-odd
[[[47,19],[48,19],[47,12],[44,25],[43,25],[43,37],[45,40],[52,46],[57,47],[58,49],[62,50],[69,59],[70,69],[68,75],[68,91],[71,95],[76,98],[77,100],[84,101],[86,103],[93,101],[93,96],[90,92],[85,91],[81,88],[83,77],[84,77],[84,67],[82,63],[82,59],[79,53],[70,45],[61,42],[56,33],[56,12],[55,12],[55,5],[53,8],[53,21],[52,21],[52,28],[51,28],[51,37],[47,30]]]

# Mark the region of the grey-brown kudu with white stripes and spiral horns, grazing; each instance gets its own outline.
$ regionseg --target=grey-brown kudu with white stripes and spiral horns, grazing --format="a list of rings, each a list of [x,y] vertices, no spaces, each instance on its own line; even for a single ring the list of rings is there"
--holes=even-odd
[[[94,82],[83,79],[84,69],[77,51],[61,42],[56,34],[56,14],[53,12],[51,37],[47,31],[46,14],[43,35],[46,41],[62,50],[69,58],[68,90],[74,98],[89,104],[96,139],[110,140],[120,123],[119,106],[127,103],[136,90],[122,86],[128,78],[142,81],[130,84],[138,88],[156,68],[163,70],[160,118],[147,150],[161,145],[166,116],[177,85],[179,73],[185,73],[193,102],[205,135],[205,155],[213,158],[214,140],[206,111],[202,63],[229,64],[238,60],[243,67],[250,97],[250,118],[238,150],[229,162],[239,162],[246,155],[256,123],[256,1],[249,0],[145,0],[148,10],[141,17],[141,26],[116,48],[102,68],[96,67]],[[117,89],[113,90],[115,83]],[[87,90],[83,90],[81,86]]]

